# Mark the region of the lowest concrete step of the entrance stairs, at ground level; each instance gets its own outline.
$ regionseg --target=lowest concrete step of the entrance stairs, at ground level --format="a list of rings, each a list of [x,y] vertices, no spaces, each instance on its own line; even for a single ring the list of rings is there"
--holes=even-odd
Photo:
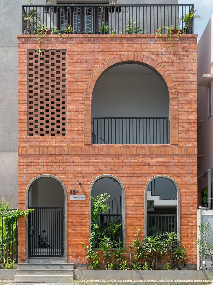
[[[43,283],[51,283],[55,281],[63,282],[64,280],[73,280],[73,275],[15,275],[15,282],[43,282]]]

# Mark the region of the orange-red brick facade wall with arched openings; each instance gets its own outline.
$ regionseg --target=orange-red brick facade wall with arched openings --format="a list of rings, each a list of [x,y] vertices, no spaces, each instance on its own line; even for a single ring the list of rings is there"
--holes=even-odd
[[[197,37],[175,41],[172,54],[166,37],[162,47],[153,35],[44,36],[42,49],[67,49],[67,135],[27,136],[27,49],[38,48],[34,35],[19,39],[19,207],[25,207],[27,184],[52,174],[85,201],[67,201],[67,258],[84,263],[80,241],[89,236],[89,187],[101,174],[117,176],[126,195],[126,246],[135,227],[144,228],[144,188],[154,175],[171,176],[180,188],[181,241],[189,262],[196,263],[197,209]],[[91,145],[91,94],[101,72],[120,61],[155,67],[170,94],[170,141],[163,146]],[[78,181],[81,186],[78,186]],[[25,261],[25,222],[19,223],[19,259]]]

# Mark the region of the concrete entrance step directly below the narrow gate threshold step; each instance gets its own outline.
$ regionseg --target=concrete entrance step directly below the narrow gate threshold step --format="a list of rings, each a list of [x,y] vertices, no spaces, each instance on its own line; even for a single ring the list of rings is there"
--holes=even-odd
[[[55,264],[30,264],[30,263],[19,263],[17,264],[17,268],[19,269],[52,269],[52,270],[57,270],[57,269],[66,269],[66,270],[73,270],[73,263],[55,263]]]

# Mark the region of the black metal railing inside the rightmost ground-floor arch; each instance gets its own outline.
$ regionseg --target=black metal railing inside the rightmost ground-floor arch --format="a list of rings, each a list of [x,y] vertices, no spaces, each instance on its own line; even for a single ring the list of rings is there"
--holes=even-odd
[[[147,214],[147,235],[157,236],[165,232],[177,233],[177,215]]]

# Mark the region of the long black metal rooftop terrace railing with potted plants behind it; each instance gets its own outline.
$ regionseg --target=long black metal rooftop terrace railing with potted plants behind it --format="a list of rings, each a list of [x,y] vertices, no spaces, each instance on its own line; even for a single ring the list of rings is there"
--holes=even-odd
[[[22,17],[23,34],[155,34],[161,26],[193,34],[194,5],[22,5]]]

